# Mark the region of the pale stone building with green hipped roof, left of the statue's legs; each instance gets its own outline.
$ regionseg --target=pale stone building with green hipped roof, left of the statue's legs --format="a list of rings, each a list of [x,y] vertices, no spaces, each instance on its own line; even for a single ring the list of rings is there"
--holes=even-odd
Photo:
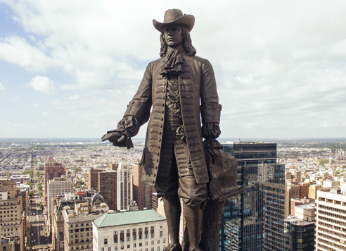
[[[152,209],[109,212],[92,224],[94,251],[162,251],[168,245],[166,219]]]

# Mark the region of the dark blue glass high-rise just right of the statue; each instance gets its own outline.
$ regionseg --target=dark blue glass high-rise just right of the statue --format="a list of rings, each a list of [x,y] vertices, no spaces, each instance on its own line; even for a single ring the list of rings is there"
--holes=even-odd
[[[225,202],[219,250],[283,250],[285,167],[276,143],[233,142],[224,151],[238,162],[245,192]]]

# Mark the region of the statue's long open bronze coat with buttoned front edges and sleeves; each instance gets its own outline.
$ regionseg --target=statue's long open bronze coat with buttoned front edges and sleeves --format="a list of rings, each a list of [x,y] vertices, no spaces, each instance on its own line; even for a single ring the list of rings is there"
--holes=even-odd
[[[201,118],[202,123],[219,123],[221,105],[210,62],[185,53],[181,56],[184,60],[182,73],[178,77],[181,115],[196,183],[202,184],[207,183],[209,177],[203,150]],[[148,121],[152,108],[141,161],[143,182],[148,185],[155,185],[160,163],[167,92],[167,79],[160,75],[164,62],[165,57],[148,64],[139,90],[124,114],[135,116],[143,125]]]

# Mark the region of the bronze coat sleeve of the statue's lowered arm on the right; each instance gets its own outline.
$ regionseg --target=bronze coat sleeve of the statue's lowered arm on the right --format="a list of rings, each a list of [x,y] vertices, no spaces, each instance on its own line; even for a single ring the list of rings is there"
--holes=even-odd
[[[222,106],[219,104],[214,70],[207,59],[203,63],[200,92],[200,112],[203,125],[205,123],[219,124]]]

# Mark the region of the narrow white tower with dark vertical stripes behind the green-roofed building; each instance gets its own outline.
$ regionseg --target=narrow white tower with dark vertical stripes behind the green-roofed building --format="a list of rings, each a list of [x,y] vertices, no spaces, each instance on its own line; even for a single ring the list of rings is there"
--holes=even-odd
[[[117,169],[117,210],[127,210],[131,201],[131,169],[129,164],[120,163]]]

